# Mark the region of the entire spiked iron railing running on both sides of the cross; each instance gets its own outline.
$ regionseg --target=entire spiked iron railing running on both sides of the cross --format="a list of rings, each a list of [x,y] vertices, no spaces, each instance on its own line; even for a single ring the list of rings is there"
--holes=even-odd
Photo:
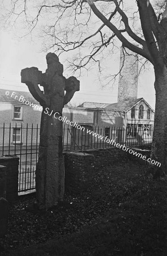
[[[63,126],[63,150],[87,150],[91,148],[114,147],[120,145],[139,147],[152,143],[153,128],[128,126],[95,127]],[[0,156],[17,155],[19,157],[19,192],[35,189],[35,170],[38,160],[40,128],[29,126],[8,125],[0,127]]]

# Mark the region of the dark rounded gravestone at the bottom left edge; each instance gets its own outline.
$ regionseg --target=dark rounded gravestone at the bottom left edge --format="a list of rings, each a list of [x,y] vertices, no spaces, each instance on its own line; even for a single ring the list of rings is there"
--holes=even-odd
[[[0,197],[0,237],[7,233],[8,201]]]

